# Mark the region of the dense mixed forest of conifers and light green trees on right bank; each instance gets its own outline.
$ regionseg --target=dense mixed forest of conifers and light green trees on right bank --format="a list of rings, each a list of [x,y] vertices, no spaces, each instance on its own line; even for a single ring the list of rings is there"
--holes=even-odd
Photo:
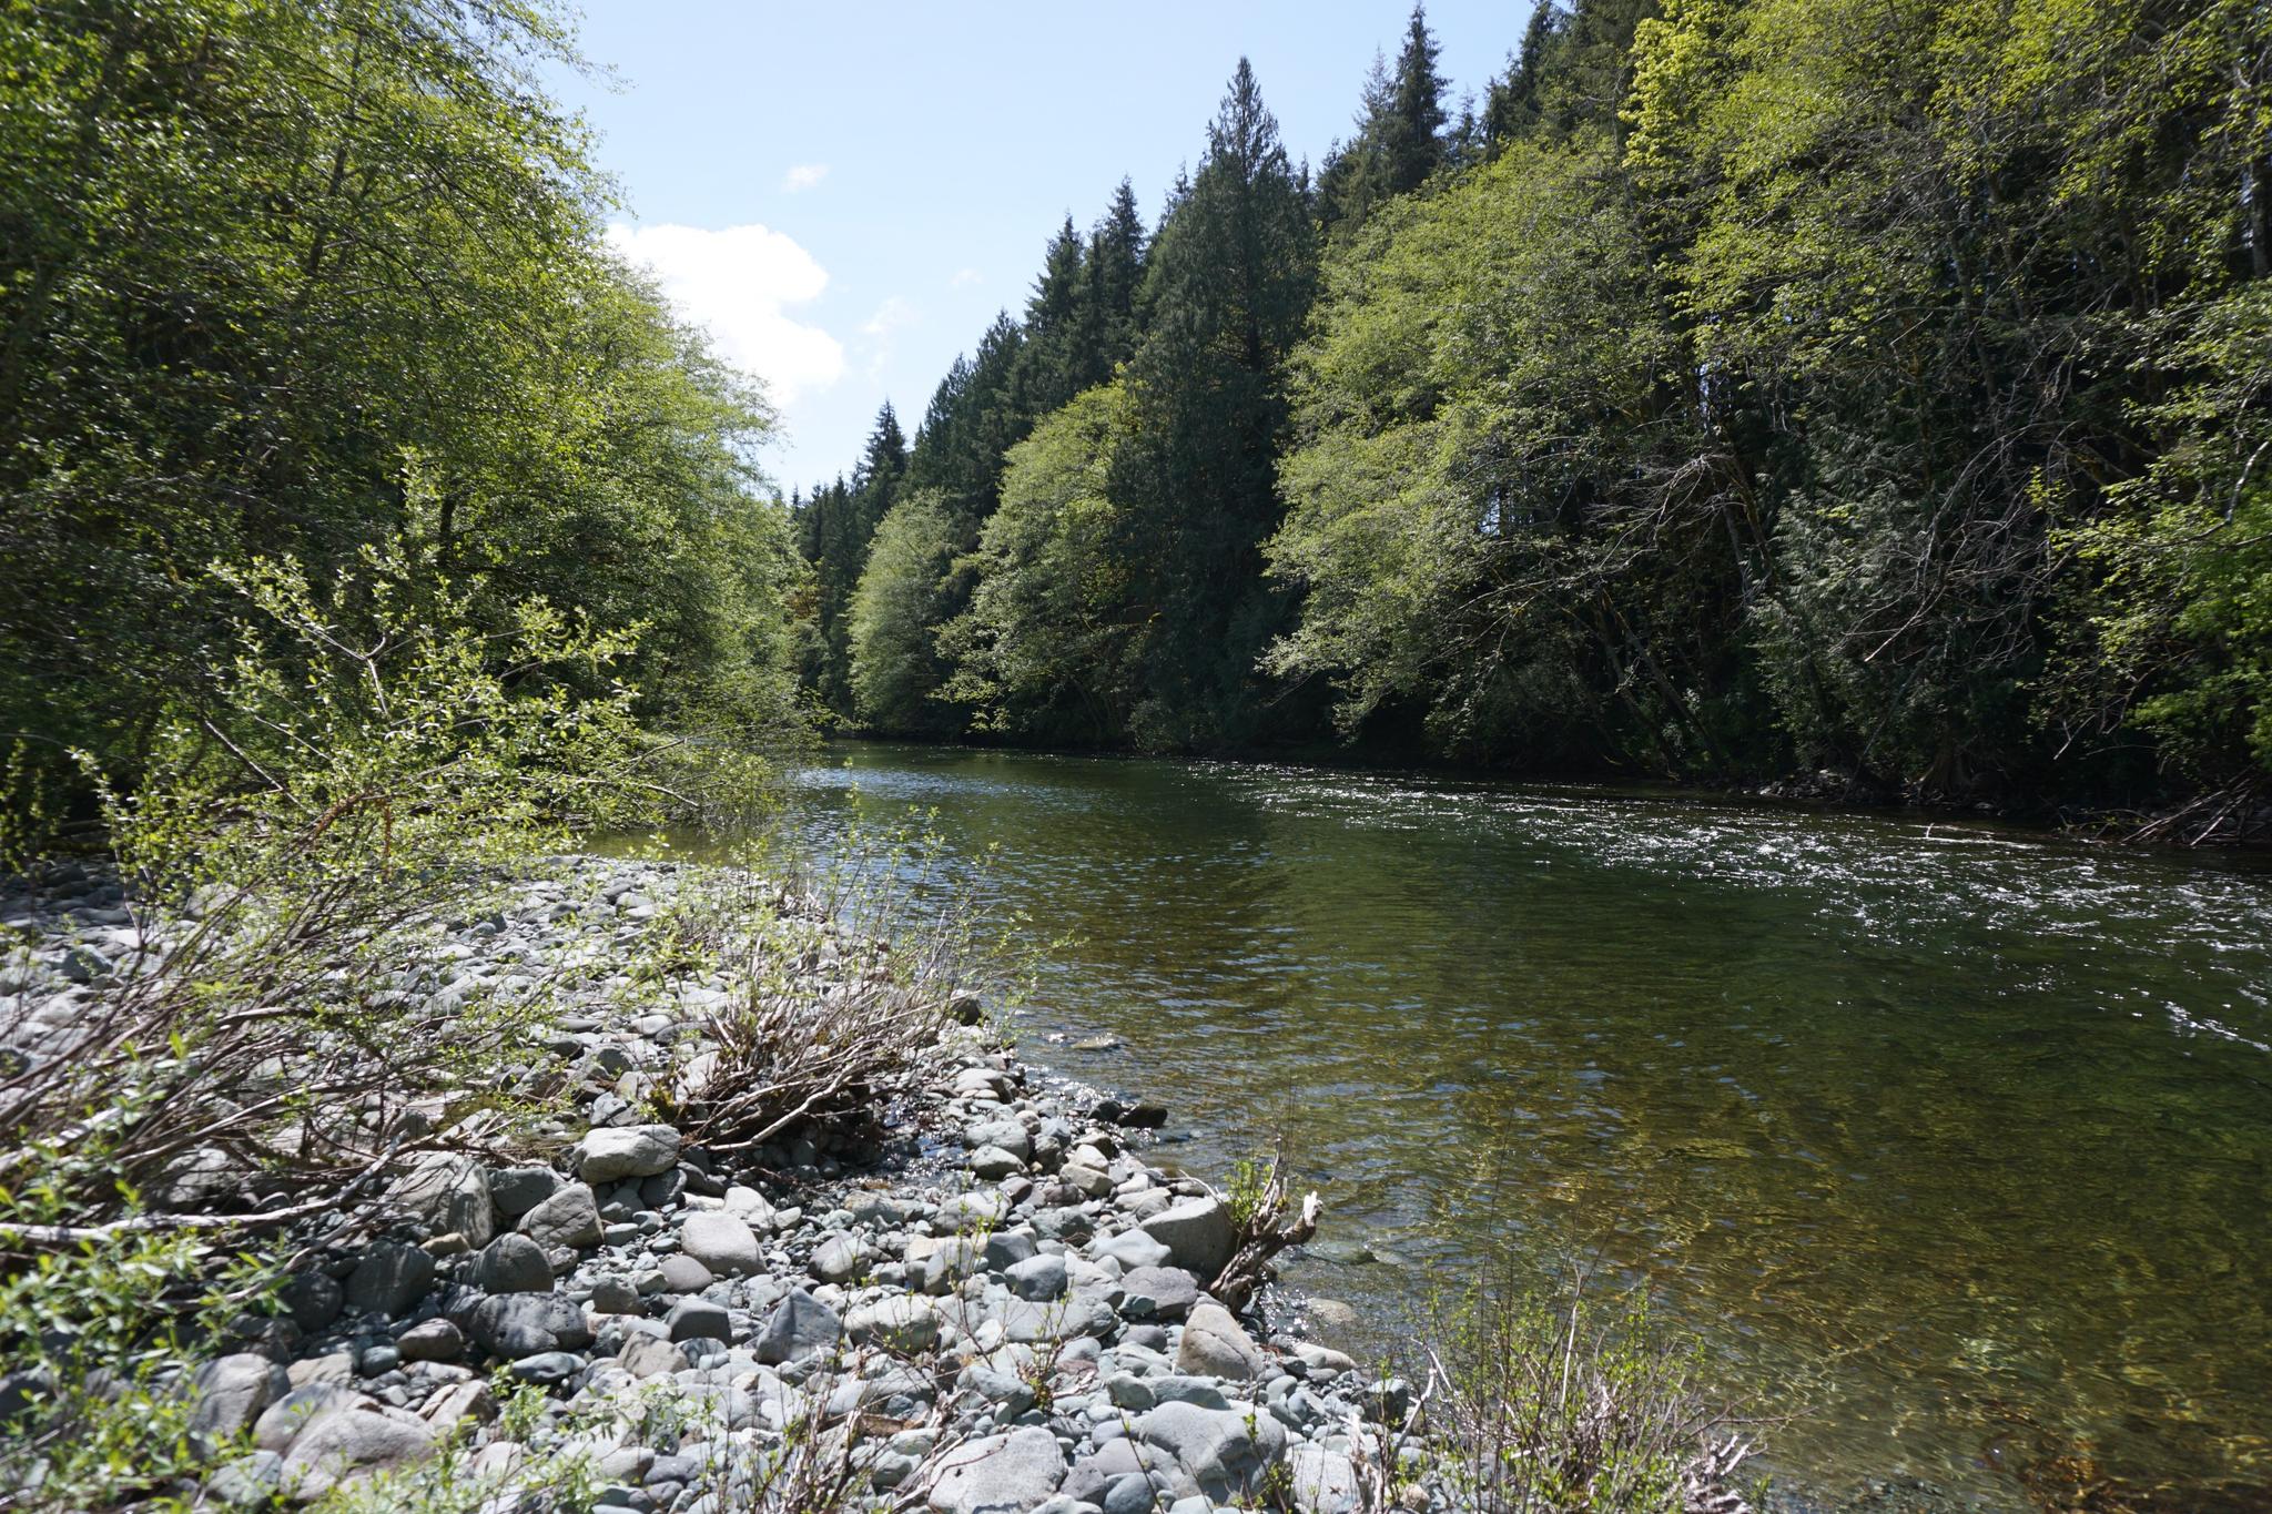
[[[2272,781],[2272,20],[1427,18],[1288,159],[1241,64],[909,445],[793,499],[870,731],[1793,781],[2229,826]]]

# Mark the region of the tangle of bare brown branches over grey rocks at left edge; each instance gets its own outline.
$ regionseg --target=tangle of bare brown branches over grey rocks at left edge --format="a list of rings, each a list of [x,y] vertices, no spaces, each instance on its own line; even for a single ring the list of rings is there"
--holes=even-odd
[[[341,872],[252,878],[136,908],[139,947],[68,996],[0,1017],[0,1187],[36,1174],[57,1219],[0,1223],[0,1251],[136,1233],[277,1228],[452,1144],[495,1105],[545,983],[448,992],[425,962],[479,881]],[[466,1071],[488,1067],[484,1080]],[[482,1094],[468,1094],[479,1087]]]

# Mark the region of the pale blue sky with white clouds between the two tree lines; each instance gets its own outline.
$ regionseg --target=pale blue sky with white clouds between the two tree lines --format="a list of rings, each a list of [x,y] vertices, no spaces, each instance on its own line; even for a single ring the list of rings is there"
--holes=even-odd
[[[600,132],[627,202],[611,236],[763,377],[786,493],[850,470],[888,397],[909,431],[995,311],[1020,311],[1050,234],[1122,175],[1145,222],[1238,57],[1288,150],[1350,134],[1372,54],[1409,0],[963,5],[586,0],[584,52],[613,82],[554,75]],[[1438,0],[1452,98],[1522,36],[1525,0]]]

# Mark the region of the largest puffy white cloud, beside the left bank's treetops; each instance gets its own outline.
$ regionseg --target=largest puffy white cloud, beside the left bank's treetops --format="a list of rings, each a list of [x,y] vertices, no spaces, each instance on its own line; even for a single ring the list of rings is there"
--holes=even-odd
[[[718,354],[763,379],[779,404],[843,377],[843,343],[791,320],[784,309],[816,300],[829,275],[782,232],[613,225],[607,241],[652,268],[663,295],[688,320],[709,327]]]

